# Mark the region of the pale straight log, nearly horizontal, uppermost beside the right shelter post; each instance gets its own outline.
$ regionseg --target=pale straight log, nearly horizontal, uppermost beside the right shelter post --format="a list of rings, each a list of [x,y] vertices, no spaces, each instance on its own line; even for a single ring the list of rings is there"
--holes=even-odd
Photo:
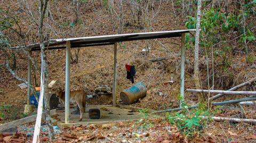
[[[187,89],[188,92],[210,92],[211,94],[231,94],[231,95],[256,95],[256,91],[225,91],[225,90],[201,90]]]

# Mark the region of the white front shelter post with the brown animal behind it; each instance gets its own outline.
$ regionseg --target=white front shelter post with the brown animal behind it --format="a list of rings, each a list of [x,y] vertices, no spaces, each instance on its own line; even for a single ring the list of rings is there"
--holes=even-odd
[[[69,123],[70,94],[70,41],[66,42],[66,89],[65,89],[65,123]]]

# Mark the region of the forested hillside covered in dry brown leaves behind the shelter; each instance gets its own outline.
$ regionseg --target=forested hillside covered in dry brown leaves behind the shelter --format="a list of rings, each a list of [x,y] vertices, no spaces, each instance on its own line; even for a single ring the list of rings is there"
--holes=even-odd
[[[196,29],[197,3],[195,0],[52,0],[44,15],[43,40]],[[255,5],[255,0],[202,2],[198,62],[201,89],[228,90],[256,77]],[[40,87],[41,52],[11,48],[38,43],[38,27],[38,1],[0,2],[0,107],[11,105],[11,112],[15,113],[8,120],[0,117],[1,123],[22,117],[27,88],[20,89],[18,85],[23,81],[13,73],[27,80],[29,56],[33,60],[31,86]],[[186,91],[196,89],[193,78],[195,35],[193,31],[185,37],[184,98],[188,105],[199,102],[196,93]],[[180,55],[180,38],[118,43],[117,98],[120,99],[121,91],[133,85],[126,79],[125,64],[130,64],[135,65],[137,71],[135,83],[142,82],[147,87],[147,96],[132,106],[155,111],[180,107]],[[58,88],[65,88],[66,50],[48,50],[46,57],[49,82],[57,80],[49,89],[54,93]],[[163,60],[154,61],[156,58]],[[113,45],[71,49],[70,91],[84,90],[92,95],[99,86],[113,88],[113,76]],[[252,82],[237,91],[255,91],[255,87],[256,82]],[[249,96],[226,95],[214,102]],[[87,104],[112,105],[113,97],[98,96],[87,100]],[[255,108],[249,108],[246,116],[256,119]],[[227,112],[223,108],[216,111],[223,116],[224,113],[232,116],[238,111]],[[10,113],[0,111],[1,114]]]

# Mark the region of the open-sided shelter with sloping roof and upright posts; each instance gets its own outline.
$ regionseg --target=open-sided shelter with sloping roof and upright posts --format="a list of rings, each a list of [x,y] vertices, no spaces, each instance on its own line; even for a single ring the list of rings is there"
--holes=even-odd
[[[52,39],[44,42],[47,49],[63,49],[66,48],[66,101],[65,101],[65,123],[69,123],[69,93],[70,93],[70,48],[77,47],[90,47],[101,45],[114,45],[114,82],[113,82],[113,103],[116,106],[116,72],[117,72],[117,43],[122,41],[145,40],[156,38],[171,38],[181,37],[181,76],[180,76],[180,94],[184,97],[184,75],[185,75],[185,33],[190,30],[173,30],[173,31],[158,31],[158,32],[142,32],[142,33],[128,33],[120,35],[107,35],[107,36],[93,36],[93,37],[80,37],[80,38],[65,38],[65,39]],[[30,51],[40,51],[39,43],[13,47],[16,49],[28,48]],[[28,60],[28,82],[31,81],[31,61]],[[28,88],[28,104],[30,99],[30,89]]]

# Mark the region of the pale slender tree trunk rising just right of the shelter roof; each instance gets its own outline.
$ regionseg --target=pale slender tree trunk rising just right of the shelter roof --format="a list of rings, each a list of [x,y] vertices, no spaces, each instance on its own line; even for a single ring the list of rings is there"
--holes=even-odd
[[[200,35],[200,19],[201,19],[201,5],[202,1],[197,2],[197,18],[196,18],[196,38],[195,38],[195,64],[194,64],[194,81],[196,89],[201,89],[199,81],[199,67],[198,67],[198,49],[199,49],[199,35]],[[198,93],[198,100],[201,104],[205,103],[203,94]]]

